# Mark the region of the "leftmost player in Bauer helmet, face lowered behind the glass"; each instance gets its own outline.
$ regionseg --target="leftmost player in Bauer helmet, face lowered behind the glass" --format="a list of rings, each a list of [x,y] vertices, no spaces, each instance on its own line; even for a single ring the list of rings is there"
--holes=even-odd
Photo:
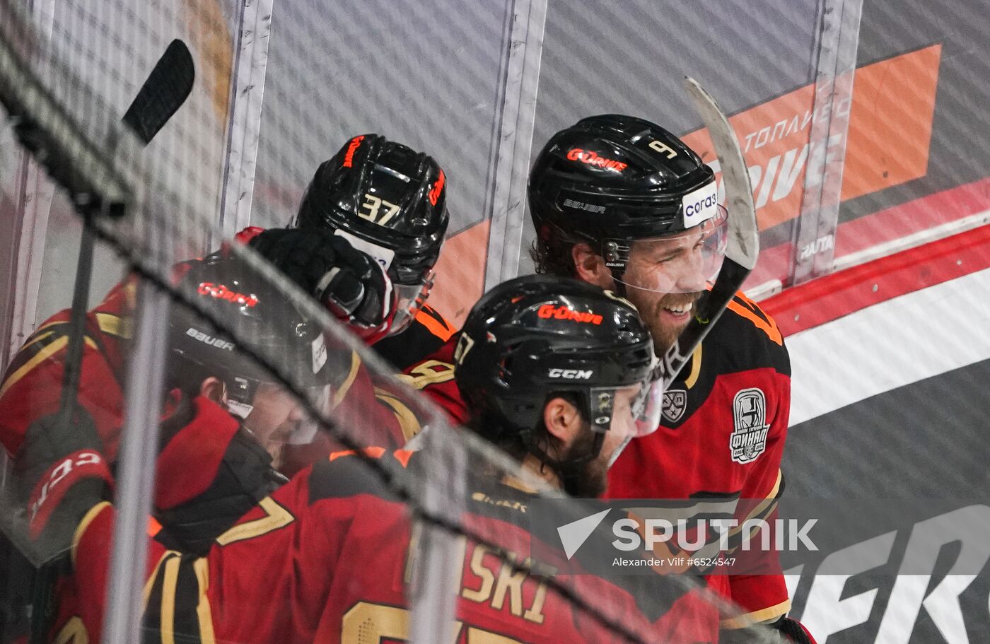
[[[158,470],[179,470],[184,476],[181,482],[159,478],[148,530],[162,547],[205,554],[214,539],[287,481],[272,467],[270,454],[279,454],[272,447],[310,418],[283,381],[314,404],[323,403],[332,391],[341,391],[350,355],[328,347],[319,326],[235,257],[214,255],[193,263],[175,288],[206,316],[179,304],[169,313],[161,422],[166,447]],[[225,330],[210,319],[222,321]],[[258,354],[273,361],[278,377],[259,364]],[[117,395],[110,392],[108,397]],[[365,396],[375,405],[370,389]],[[98,433],[88,409],[80,404],[70,424],[58,413],[33,420],[17,452],[15,471],[29,481],[37,476],[37,464],[26,455],[38,451],[38,441],[44,443],[38,427],[46,423],[58,425],[69,441],[82,440],[71,435],[81,431],[101,452],[116,444]],[[58,489],[49,487],[29,506],[44,505],[49,495],[57,496]],[[52,526],[40,555],[57,561],[73,528]],[[54,633],[78,620],[79,607],[75,588],[66,579],[53,583],[56,612],[46,621]]]

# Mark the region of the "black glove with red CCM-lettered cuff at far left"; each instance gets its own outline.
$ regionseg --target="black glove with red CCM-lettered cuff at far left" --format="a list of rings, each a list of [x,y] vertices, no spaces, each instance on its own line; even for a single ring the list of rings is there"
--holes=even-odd
[[[82,517],[109,499],[113,477],[96,424],[84,409],[43,416],[15,458],[30,534],[46,560],[68,549]]]

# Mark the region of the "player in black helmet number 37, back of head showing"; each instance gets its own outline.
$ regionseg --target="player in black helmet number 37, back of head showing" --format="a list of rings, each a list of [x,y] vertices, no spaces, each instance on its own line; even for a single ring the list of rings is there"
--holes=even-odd
[[[447,224],[446,179],[432,157],[378,135],[351,138],[320,166],[295,224],[303,230],[270,230],[254,243],[261,241],[259,250],[289,273],[299,267],[292,264],[294,257],[279,254],[280,248],[288,247],[285,235],[294,234],[293,243],[301,241],[307,253],[328,265],[347,256],[346,261],[340,262],[346,267],[345,273],[339,274],[333,286],[322,285],[325,302],[337,303],[334,310],[366,340],[376,342],[392,333],[394,342],[389,338],[379,343],[380,347],[376,344],[386,358],[401,362],[403,356],[425,355],[446,341],[451,332],[446,321],[435,311],[422,309]],[[313,230],[331,232],[333,236],[311,235]],[[238,239],[247,243],[259,233],[262,230],[248,229],[239,233]],[[316,243],[322,247],[316,248]],[[360,252],[355,253],[351,247]],[[300,246],[293,245],[292,250],[298,255]],[[224,254],[224,250],[219,252]],[[382,266],[390,279],[376,274],[378,271],[371,270],[357,256],[365,253]],[[178,264],[176,279],[197,261]],[[394,295],[386,293],[388,289],[373,288],[370,283],[376,281],[394,285],[388,286]],[[369,283],[366,289],[363,282]],[[379,292],[377,300],[363,297],[365,293]],[[135,281],[125,280],[86,319],[78,400],[107,441],[106,455],[111,461],[116,459],[117,435],[123,419],[121,383],[134,295]],[[28,425],[58,408],[68,320],[69,312],[65,310],[41,324],[0,381],[0,442],[11,455],[20,447]],[[403,351],[395,350],[399,346]],[[354,360],[359,363],[356,354]],[[368,380],[362,368],[355,369],[361,371],[358,380]],[[381,410],[365,410],[372,414],[373,422],[368,424],[399,422],[400,414],[390,405],[401,402],[395,397],[388,397],[388,401]],[[409,437],[403,431],[411,436],[414,430],[398,429],[393,442],[401,444]],[[297,436],[294,440],[302,439]],[[274,450],[282,444],[278,440],[268,446]],[[274,456],[279,459],[277,454]],[[293,463],[280,465],[291,473],[298,469],[295,461],[300,458],[300,454],[293,454]]]

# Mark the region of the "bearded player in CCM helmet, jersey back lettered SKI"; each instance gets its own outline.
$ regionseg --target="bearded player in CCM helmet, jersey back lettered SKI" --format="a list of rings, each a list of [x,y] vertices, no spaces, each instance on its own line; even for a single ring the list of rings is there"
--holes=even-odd
[[[645,405],[655,393],[649,333],[633,307],[599,289],[541,276],[513,280],[482,298],[460,337],[458,382],[471,426],[549,483],[577,494],[600,492],[622,446],[656,426],[656,409]],[[571,369],[588,375],[568,377]],[[97,641],[114,518],[104,501],[110,475],[100,441],[85,423],[67,431],[41,421],[32,433],[39,439],[26,443],[24,459],[36,473],[34,489],[48,486],[33,533],[45,538],[53,522],[78,524],[71,554],[80,619],[59,637]],[[395,488],[369,472],[366,458],[397,486],[424,476],[416,453],[342,452],[262,500],[205,558],[152,545],[145,627],[167,640],[245,644],[407,639],[404,580],[408,566],[416,566],[407,561],[411,519]],[[174,463],[159,460],[158,470],[176,485],[188,477]],[[533,493],[491,468],[469,471],[465,526],[525,552]],[[657,576],[660,585],[651,589],[628,590],[580,575],[547,588],[546,579],[512,571],[485,544],[461,544],[458,642],[620,641],[616,624],[639,641],[705,641],[684,630],[689,623],[661,616],[669,597],[657,591],[675,592],[662,584],[665,578]],[[506,584],[495,598],[493,588]],[[559,595],[561,588],[583,598],[584,608]]]

